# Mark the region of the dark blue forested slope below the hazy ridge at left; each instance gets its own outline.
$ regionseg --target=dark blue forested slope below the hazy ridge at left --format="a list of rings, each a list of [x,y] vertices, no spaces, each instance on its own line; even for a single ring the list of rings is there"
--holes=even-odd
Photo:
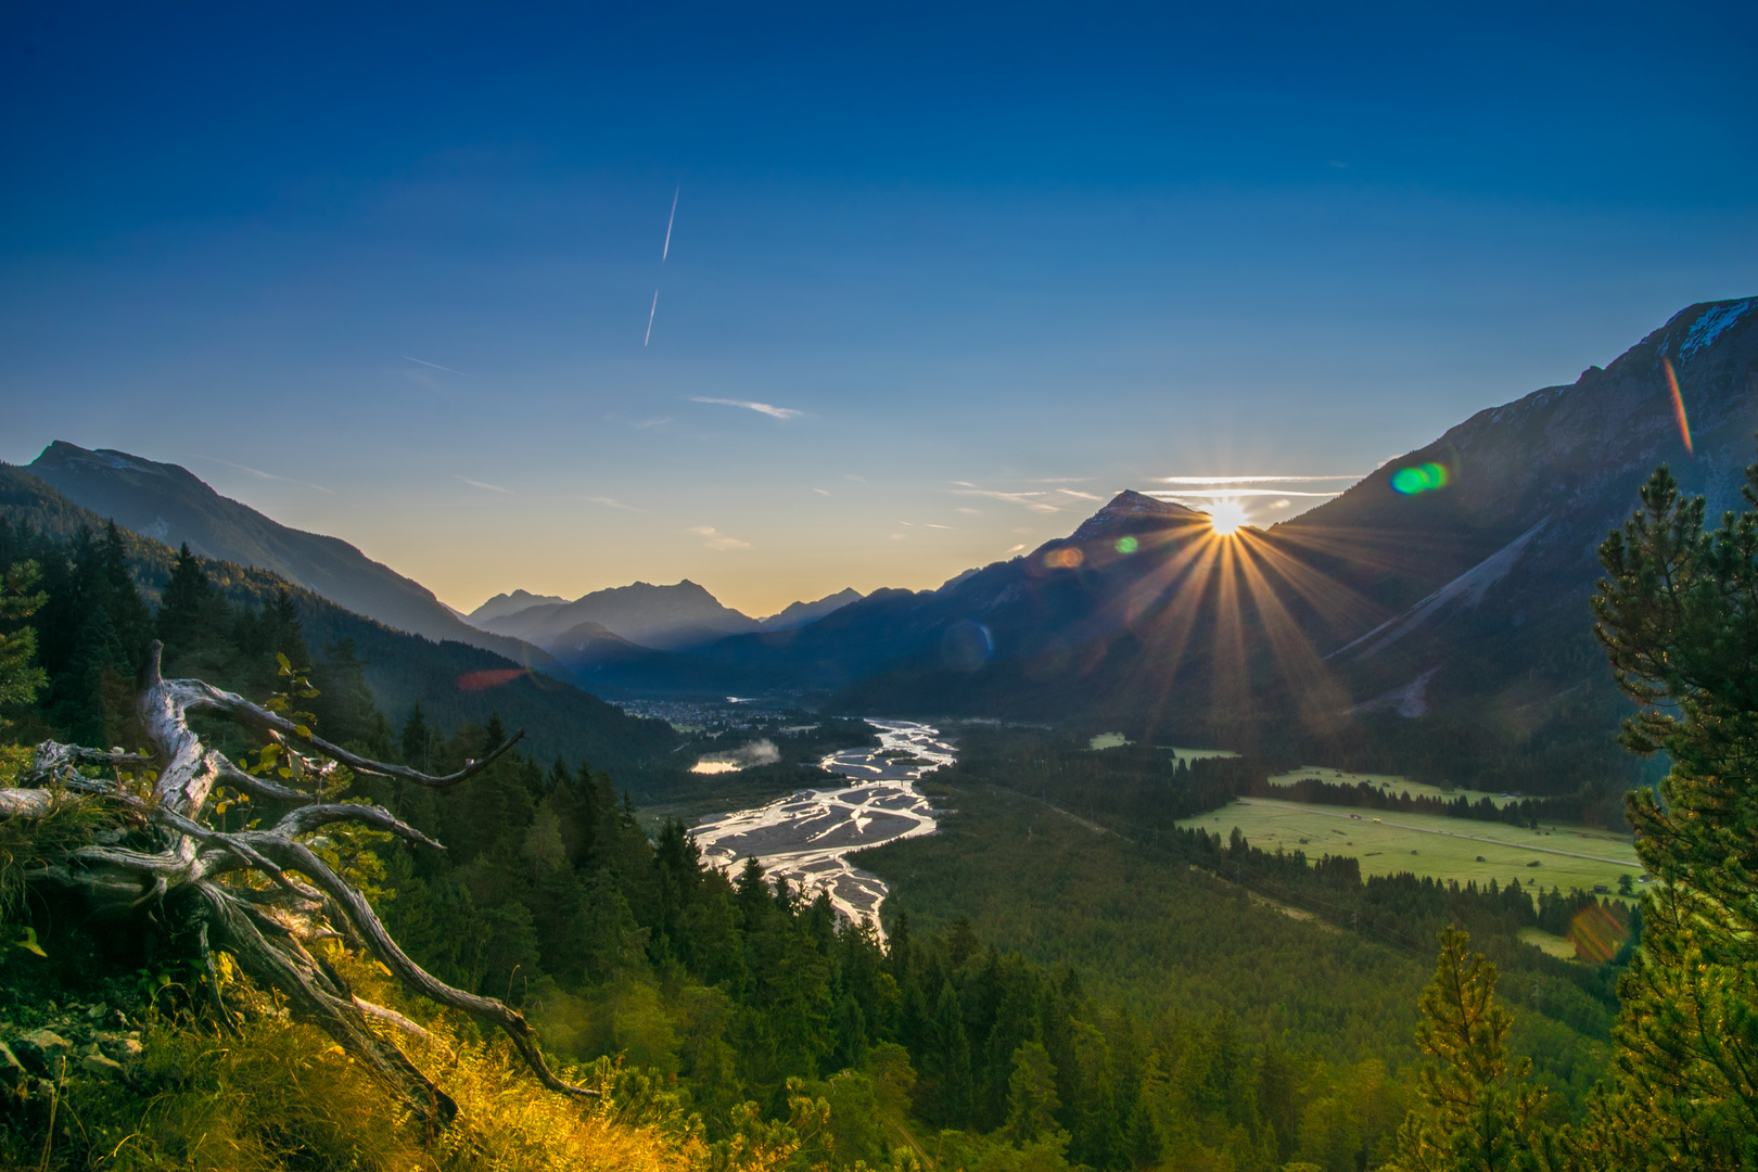
[[[0,518],[67,539],[81,527],[100,531],[105,518],[58,492],[28,469],[0,464]],[[156,599],[176,561],[171,546],[123,529],[130,569]],[[610,770],[619,784],[640,791],[640,778],[675,768],[666,754],[677,734],[663,720],[631,717],[621,708],[561,680],[533,673],[513,659],[459,641],[432,641],[352,613],[285,578],[236,562],[204,559],[202,568],[236,603],[260,604],[287,589],[299,604],[306,641],[315,654],[352,640],[366,661],[366,680],[383,713],[401,722],[420,703],[429,724],[455,729],[485,724],[498,712],[510,729],[526,729],[526,749],[538,759],[557,756]]]

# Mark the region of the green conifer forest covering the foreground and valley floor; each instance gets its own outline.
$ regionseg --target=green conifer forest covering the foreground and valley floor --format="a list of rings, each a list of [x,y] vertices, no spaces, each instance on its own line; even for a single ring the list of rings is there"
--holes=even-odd
[[[498,715],[440,727],[420,706],[381,712],[359,652],[311,647],[287,590],[229,597],[185,548],[151,599],[114,527],[70,539],[0,527],[0,699],[18,745],[0,780],[23,777],[26,745],[53,738],[120,747],[70,778],[98,785],[109,768],[127,785],[121,763],[146,740],[134,694],[158,668],[135,648],[155,640],[167,676],[297,694],[309,708],[297,717],[332,757],[464,778],[325,771],[325,801],[381,807],[390,821],[325,824],[308,835],[320,856],[306,857],[345,875],[434,977],[529,1017],[550,1061],[596,1089],[580,1119],[647,1128],[656,1146],[643,1151],[677,1167],[1735,1168],[1758,1154],[1742,1081],[1751,926],[1739,912],[1753,863],[1728,852],[1742,840],[1726,812],[1749,817],[1737,770],[1758,729],[1740,691],[1754,620],[1721,583],[1751,578],[1758,522],[1747,513],[1702,534],[1702,504],[1661,474],[1645,506],[1603,552],[1598,629],[1626,691],[1675,699],[1682,715],[1635,722],[1624,740],[1668,750],[1661,792],[1695,814],[1677,821],[1653,796],[1631,798],[1644,863],[1665,882],[1640,915],[1519,882],[1362,882],[1352,859],[1173,826],[1259,785],[1252,761],[1150,770],[997,733],[972,734],[960,763],[926,780],[948,810],[942,833],[868,854],[895,891],[881,935],[770,884],[758,859],[737,875],[705,868],[682,822],[645,824],[594,763],[508,750]],[[1656,561],[1667,582],[1702,589],[1668,599]],[[1693,641],[1705,626],[1725,638]],[[278,691],[288,678],[302,691]],[[294,761],[280,742],[193,722],[258,775]],[[278,785],[223,780],[195,829],[223,838],[285,822],[272,794],[290,791]],[[100,817],[74,801],[51,822],[70,842],[127,840],[128,808]],[[264,1114],[258,1100],[274,1096],[251,1079],[272,1070],[223,1038],[258,1038],[288,1068],[346,1081],[329,1058],[343,1047],[306,1042],[274,996],[151,917],[146,931],[93,933],[74,903],[35,893],[46,835],[16,815],[0,842],[7,1161],[243,1167],[248,1149],[258,1167],[357,1163],[366,1123],[345,1126],[339,1105],[311,1100]],[[1623,942],[1602,965],[1521,944],[1521,930],[1582,917]],[[385,988],[389,970],[329,937],[311,945],[332,958],[318,966],[338,988],[381,989],[387,1021],[420,1053],[452,1056],[459,1095],[526,1077],[471,1021]],[[220,1088],[236,1103],[218,1130],[174,1126]],[[506,1095],[478,1098],[469,1126],[512,1111]],[[425,1158],[450,1151],[432,1116],[390,1121],[387,1135]],[[475,1147],[448,1160],[494,1167],[485,1153],[510,1142],[503,1132],[475,1132]],[[214,1133],[230,1137],[232,1163],[206,1146]]]

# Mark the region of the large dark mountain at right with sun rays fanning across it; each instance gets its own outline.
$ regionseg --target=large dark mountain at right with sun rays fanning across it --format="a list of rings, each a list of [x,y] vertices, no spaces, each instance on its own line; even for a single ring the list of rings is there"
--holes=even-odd
[[[1711,515],[1739,503],[1754,322],[1758,299],[1691,306],[1609,367],[1480,411],[1269,531],[1218,538],[1123,492],[1067,539],[939,590],[877,590],[612,676],[826,689],[853,713],[1125,727],[1498,789],[1621,785],[1653,766],[1610,740],[1630,708],[1591,634],[1596,548],[1660,462]]]

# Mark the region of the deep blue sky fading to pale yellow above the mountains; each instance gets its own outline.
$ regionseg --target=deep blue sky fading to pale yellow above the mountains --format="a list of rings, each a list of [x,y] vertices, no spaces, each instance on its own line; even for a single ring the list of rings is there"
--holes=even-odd
[[[1749,4],[12,4],[0,460],[183,464],[462,610],[763,615],[1334,478],[1248,481],[1269,525],[1758,293],[1754,44]]]

